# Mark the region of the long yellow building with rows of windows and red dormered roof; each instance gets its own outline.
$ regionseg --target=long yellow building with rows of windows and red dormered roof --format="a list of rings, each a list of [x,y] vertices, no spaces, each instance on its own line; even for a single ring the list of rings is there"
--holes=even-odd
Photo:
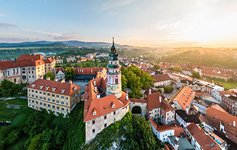
[[[70,113],[80,100],[80,87],[72,82],[38,79],[28,85],[28,107],[54,115]]]

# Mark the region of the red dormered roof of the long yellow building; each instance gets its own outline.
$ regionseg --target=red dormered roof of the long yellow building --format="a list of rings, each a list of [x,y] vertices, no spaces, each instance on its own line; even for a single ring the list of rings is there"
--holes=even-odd
[[[80,86],[76,84],[70,84],[67,82],[56,82],[51,80],[38,79],[28,85],[28,88],[41,90],[45,92],[51,92],[61,95],[72,95],[75,91],[80,90]],[[55,90],[53,90],[55,88]],[[62,92],[65,90],[64,92]]]

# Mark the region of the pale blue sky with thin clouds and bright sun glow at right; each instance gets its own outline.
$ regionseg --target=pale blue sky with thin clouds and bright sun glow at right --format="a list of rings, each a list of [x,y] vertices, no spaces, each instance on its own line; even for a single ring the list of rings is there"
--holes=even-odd
[[[237,0],[1,0],[0,43],[237,47]]]

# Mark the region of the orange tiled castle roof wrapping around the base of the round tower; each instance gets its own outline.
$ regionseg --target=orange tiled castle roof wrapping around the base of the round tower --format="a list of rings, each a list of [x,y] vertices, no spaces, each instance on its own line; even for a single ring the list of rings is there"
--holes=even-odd
[[[106,90],[106,82],[104,78],[95,78],[88,83],[86,87],[85,94],[88,94],[84,102],[84,122],[104,116],[111,113],[119,108],[126,107],[129,105],[129,100],[126,100],[126,93],[123,92],[120,98],[115,95],[107,95],[102,98],[97,98],[98,93],[95,90],[94,81],[96,81],[96,86],[102,89],[102,92]],[[114,105],[114,107],[112,107]],[[93,112],[96,111],[96,115]]]

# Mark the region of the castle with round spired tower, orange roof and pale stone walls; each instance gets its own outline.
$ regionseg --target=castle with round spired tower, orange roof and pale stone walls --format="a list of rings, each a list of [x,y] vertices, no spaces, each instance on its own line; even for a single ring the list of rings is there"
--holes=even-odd
[[[122,91],[121,66],[113,45],[109,53],[105,76],[97,76],[85,87],[84,122],[86,143],[103,129],[121,120],[129,111],[128,93]]]

